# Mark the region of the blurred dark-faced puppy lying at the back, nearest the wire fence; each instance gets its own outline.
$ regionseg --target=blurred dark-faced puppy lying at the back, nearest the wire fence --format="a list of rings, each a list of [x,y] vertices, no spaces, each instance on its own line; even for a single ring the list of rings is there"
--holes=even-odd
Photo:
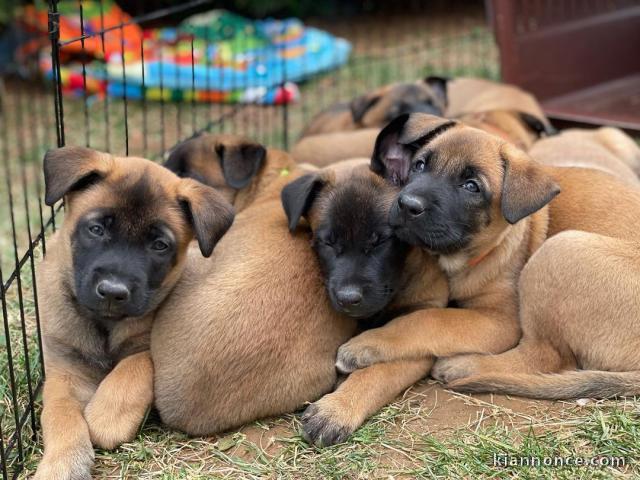
[[[381,128],[403,113],[441,115],[446,105],[445,83],[446,80],[438,77],[413,83],[392,83],[351,102],[337,103],[313,117],[302,137],[360,128]]]

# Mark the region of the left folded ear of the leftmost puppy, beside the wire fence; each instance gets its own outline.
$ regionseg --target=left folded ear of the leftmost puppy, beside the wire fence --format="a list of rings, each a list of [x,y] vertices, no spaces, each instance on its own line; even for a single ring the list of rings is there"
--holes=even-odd
[[[107,153],[85,147],[61,147],[44,156],[44,201],[51,206],[67,193],[79,190],[111,170]]]

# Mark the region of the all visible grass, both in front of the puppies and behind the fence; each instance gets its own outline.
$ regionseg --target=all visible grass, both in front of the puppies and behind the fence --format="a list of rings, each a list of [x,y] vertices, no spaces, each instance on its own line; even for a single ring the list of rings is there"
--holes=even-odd
[[[457,25],[456,25],[457,28]],[[415,32],[415,28],[406,28]],[[455,37],[434,30],[428,41],[407,35],[402,47],[386,45],[372,34],[370,42],[355,44],[354,58],[346,68],[318,75],[300,86],[302,101],[288,107],[247,107],[230,115],[213,131],[245,133],[259,141],[284,147],[285,127],[290,144],[306,121],[321,108],[359,92],[397,79],[428,74],[478,75],[498,78],[497,52],[489,32],[473,25]],[[423,42],[427,42],[424,43]],[[425,47],[426,45],[426,47]],[[6,111],[29,111],[29,118],[6,121],[0,150],[6,152],[0,171],[10,182],[0,181],[0,267],[6,280],[28,247],[27,225],[39,230],[42,197],[42,154],[55,145],[51,95],[42,90],[17,88]],[[124,103],[90,99],[86,111],[81,99],[65,97],[67,144],[89,143],[114,153],[125,151]],[[202,128],[233,107],[149,103],[146,108],[127,106],[129,152],[154,159],[196,128]],[[5,112],[3,112],[3,115]],[[108,122],[106,119],[109,119]],[[147,128],[143,125],[146,123]],[[4,163],[3,163],[4,162]],[[24,174],[24,175],[23,175]],[[23,179],[24,178],[24,182]],[[14,197],[14,221],[8,209],[8,189]],[[26,198],[26,202],[24,201]],[[27,222],[26,213],[30,219]],[[45,218],[49,211],[44,210]],[[59,219],[59,217],[58,217]],[[17,249],[13,245],[13,224]],[[36,264],[41,257],[36,250]],[[30,263],[23,267],[21,289],[17,281],[6,292],[9,345],[13,351],[18,384],[14,397],[8,388],[7,341],[0,337],[0,426],[6,442],[15,432],[14,400],[19,414],[28,404],[25,362],[33,382],[39,379],[35,336],[35,306]],[[22,308],[20,296],[22,294]],[[25,326],[22,326],[21,311]],[[23,334],[27,350],[23,348]],[[4,339],[4,340],[3,340]],[[4,362],[4,363],[3,363]],[[40,404],[36,403],[36,412]],[[346,443],[318,449],[299,435],[297,414],[247,425],[210,438],[187,438],[168,431],[153,414],[131,443],[112,451],[98,451],[94,476],[120,479],[258,479],[258,478],[633,478],[640,475],[640,403],[536,402],[504,397],[452,394],[431,381],[423,381],[382,409]],[[29,422],[23,431],[26,478],[41,456],[41,436],[32,439]],[[609,467],[520,467],[493,465],[495,455],[512,456],[622,456],[627,464]],[[9,459],[10,469],[17,458]]]

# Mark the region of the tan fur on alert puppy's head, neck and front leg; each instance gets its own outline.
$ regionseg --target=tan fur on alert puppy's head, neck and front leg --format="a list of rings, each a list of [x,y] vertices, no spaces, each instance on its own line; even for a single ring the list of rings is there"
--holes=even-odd
[[[444,123],[438,117],[414,114],[402,135],[410,141]],[[531,186],[542,186],[550,179],[524,152],[462,124],[438,135],[425,148],[436,152],[430,168],[437,171],[455,171],[473,162],[493,193],[488,226],[464,250],[438,257],[448,278],[450,299],[460,308],[419,310],[358,335],[338,351],[341,371],[400,359],[500,353],[520,338],[515,281],[546,238],[548,212],[543,207],[510,225],[501,211],[503,197],[509,191],[507,199],[515,199],[510,202],[535,198],[538,194]],[[472,264],[477,258],[481,261]]]

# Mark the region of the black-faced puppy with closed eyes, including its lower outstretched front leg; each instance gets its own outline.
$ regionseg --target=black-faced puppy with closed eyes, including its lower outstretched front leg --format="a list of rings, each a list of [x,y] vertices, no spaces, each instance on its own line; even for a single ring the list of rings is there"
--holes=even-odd
[[[311,227],[333,308],[370,328],[399,312],[445,306],[446,280],[434,259],[400,242],[388,223],[397,189],[365,165],[340,178],[338,165],[305,175],[282,192],[289,227],[294,229],[302,216]],[[390,362],[355,372],[306,409],[305,437],[319,445],[346,440],[367,417],[426,376],[432,363]]]

